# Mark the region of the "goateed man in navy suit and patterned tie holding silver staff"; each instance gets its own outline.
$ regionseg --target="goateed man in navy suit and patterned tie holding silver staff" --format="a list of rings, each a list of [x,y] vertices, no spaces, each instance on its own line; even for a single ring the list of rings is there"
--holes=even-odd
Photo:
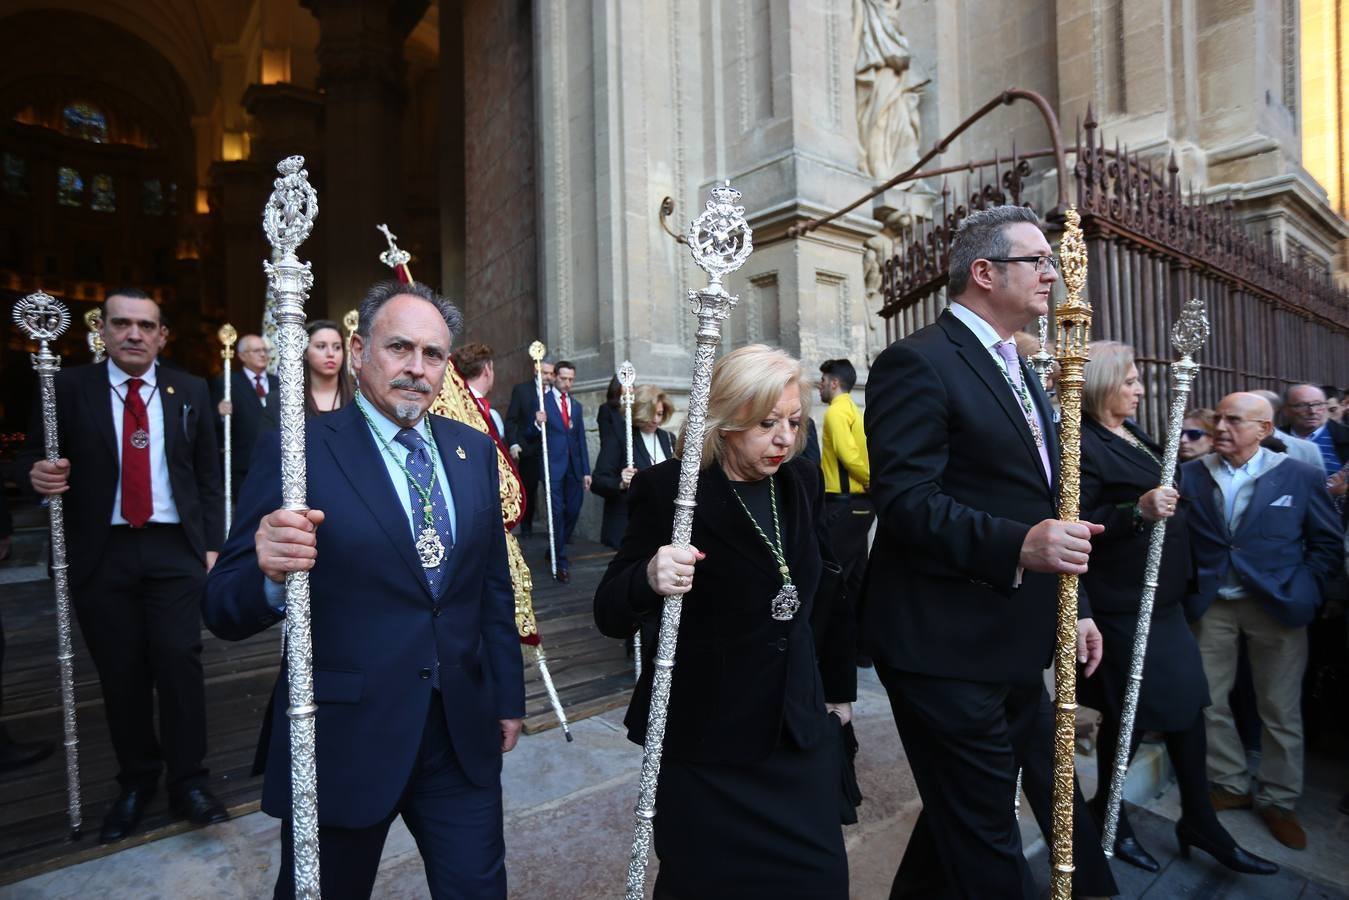
[[[286,573],[309,571],[325,897],[371,895],[398,815],[433,897],[506,896],[502,753],[525,692],[496,448],[426,414],[460,324],[424,285],[370,291],[356,402],[309,422],[312,509],[281,509],[279,443],[260,444],[206,586],[208,627],[241,640],[283,618]],[[283,668],[264,737],[263,811],[287,819],[277,897],[294,895],[286,691]]]

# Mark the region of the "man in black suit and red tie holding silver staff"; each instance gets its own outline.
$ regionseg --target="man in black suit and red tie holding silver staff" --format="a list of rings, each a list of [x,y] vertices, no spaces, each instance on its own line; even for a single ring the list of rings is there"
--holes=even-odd
[[[100,830],[120,841],[167,769],[173,810],[228,819],[206,789],[201,591],[224,540],[206,382],[156,364],[167,328],[146,293],[104,301],[108,359],[57,374],[65,457],[42,459],[40,418],[22,461],[34,490],[65,495],[70,594],[103,687],[120,792]],[[155,734],[155,695],[159,734]]]

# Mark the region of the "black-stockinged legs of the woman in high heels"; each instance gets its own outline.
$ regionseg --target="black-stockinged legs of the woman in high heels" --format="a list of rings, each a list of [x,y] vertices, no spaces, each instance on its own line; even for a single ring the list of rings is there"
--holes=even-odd
[[[1133,741],[1129,748],[1129,758],[1133,758],[1139,749],[1140,730],[1135,727]],[[1209,772],[1206,760],[1209,756],[1209,741],[1203,730],[1203,712],[1194,716],[1194,723],[1183,731],[1166,731],[1163,734],[1167,743],[1167,756],[1176,770],[1176,787],[1180,788],[1180,818],[1191,831],[1202,834],[1217,846],[1230,847],[1236,839],[1218,822],[1218,814],[1209,800]],[[1110,779],[1114,777],[1114,754],[1120,743],[1120,723],[1109,715],[1101,718],[1101,730],[1097,733],[1097,770],[1102,773],[1097,793],[1091,799],[1091,815],[1097,822],[1105,820],[1105,803],[1110,793]],[[1133,827],[1125,815],[1126,804],[1120,804],[1120,824],[1116,828],[1116,839],[1122,841],[1133,837]]]

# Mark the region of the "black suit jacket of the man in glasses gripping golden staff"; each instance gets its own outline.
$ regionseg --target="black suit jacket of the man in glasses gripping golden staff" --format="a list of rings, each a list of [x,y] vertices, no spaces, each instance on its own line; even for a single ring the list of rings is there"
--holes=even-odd
[[[1050,399],[1023,362],[1045,422]],[[892,344],[866,386],[877,534],[862,591],[863,645],[892,668],[1029,684],[1050,663],[1056,578],[1025,572],[1021,544],[1055,518],[1054,484],[1025,414],[974,333],[950,312]],[[1090,615],[1082,603],[1079,615]]]

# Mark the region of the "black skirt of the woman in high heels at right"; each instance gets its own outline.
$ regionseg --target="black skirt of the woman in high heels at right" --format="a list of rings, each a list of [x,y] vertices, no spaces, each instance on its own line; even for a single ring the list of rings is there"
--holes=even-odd
[[[1094,621],[1101,629],[1105,654],[1095,675],[1078,679],[1078,702],[1118,722],[1139,617],[1135,613],[1097,613]],[[1135,735],[1141,731],[1183,731],[1194,725],[1199,710],[1209,703],[1209,680],[1184,611],[1179,603],[1156,607],[1143,660]]]

